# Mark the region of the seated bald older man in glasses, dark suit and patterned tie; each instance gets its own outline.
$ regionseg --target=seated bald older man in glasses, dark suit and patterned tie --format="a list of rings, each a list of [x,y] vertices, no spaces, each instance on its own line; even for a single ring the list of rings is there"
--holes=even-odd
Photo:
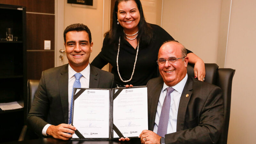
[[[149,130],[141,132],[141,142],[216,143],[223,121],[221,89],[188,77],[186,49],[177,41],[161,46],[157,63],[161,77],[147,84]]]

